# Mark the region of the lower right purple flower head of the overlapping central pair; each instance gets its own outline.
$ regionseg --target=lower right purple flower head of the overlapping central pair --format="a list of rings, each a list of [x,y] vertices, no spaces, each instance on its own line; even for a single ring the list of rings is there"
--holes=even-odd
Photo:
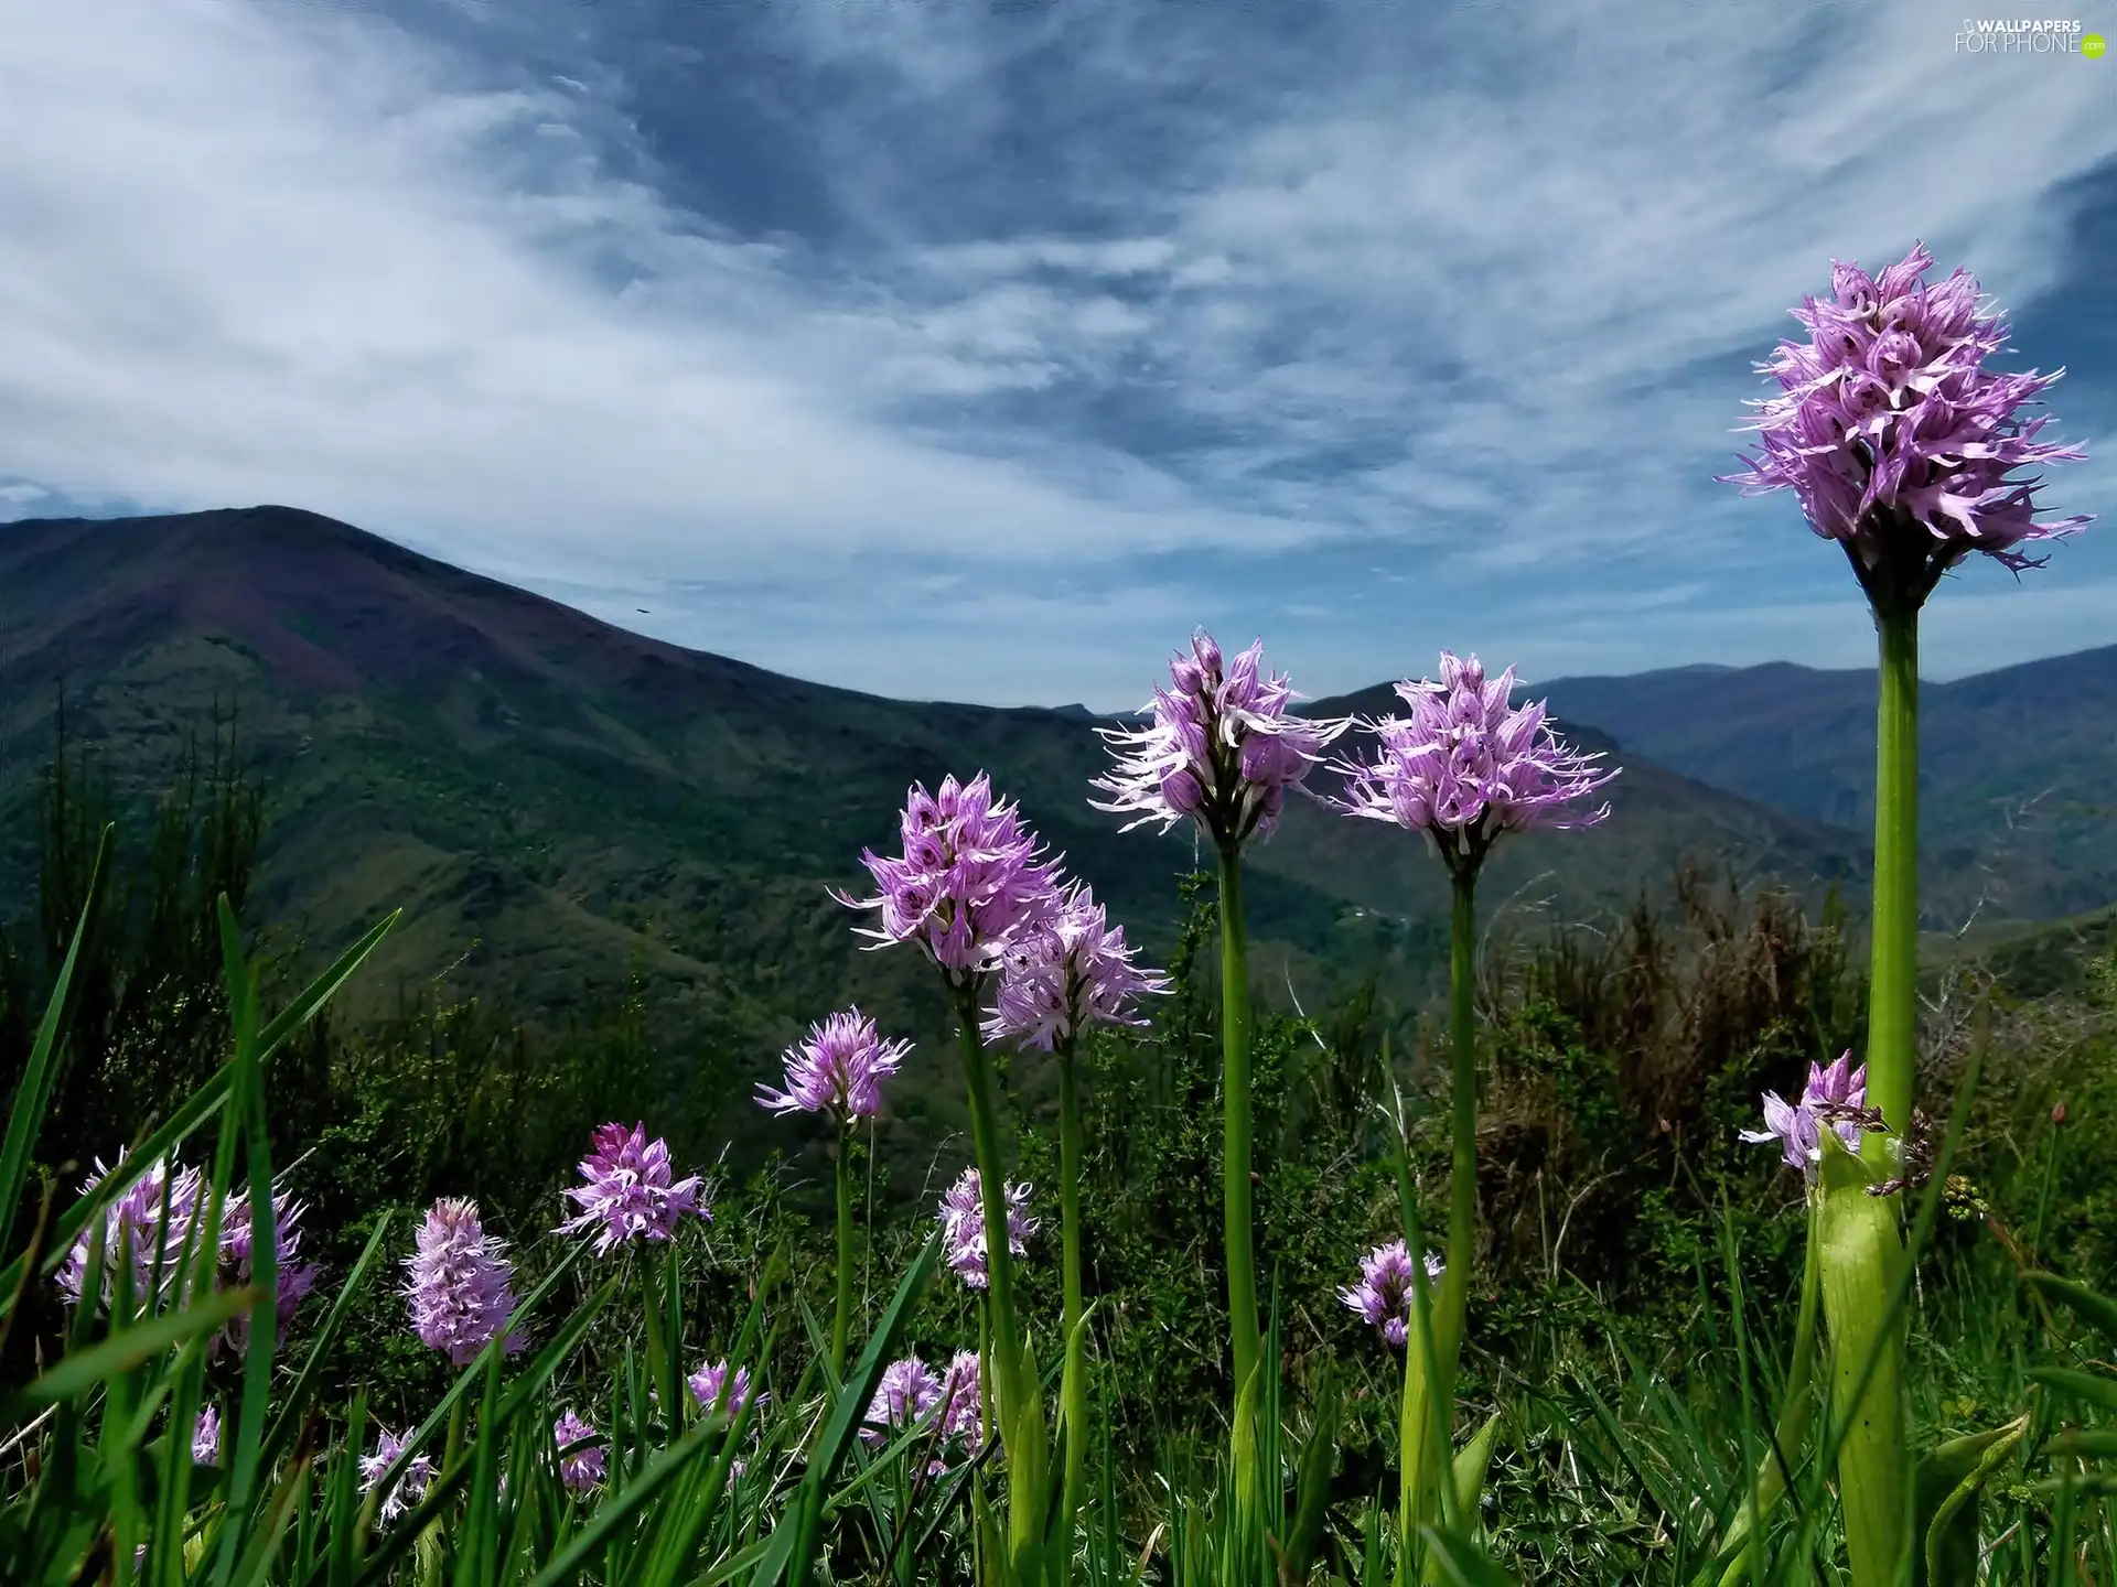
[[[1018,1037],[1050,1050],[1084,1024],[1145,1024],[1133,1014],[1139,997],[1169,992],[1169,980],[1133,965],[1124,927],[1111,927],[1094,893],[1073,882],[1058,912],[1008,948],[999,995],[984,1020],[989,1041]]]

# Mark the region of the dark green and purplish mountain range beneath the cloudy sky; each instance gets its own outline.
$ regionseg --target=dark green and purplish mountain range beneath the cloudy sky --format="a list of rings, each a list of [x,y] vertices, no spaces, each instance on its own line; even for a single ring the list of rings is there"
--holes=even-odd
[[[1929,927],[2117,897],[2094,808],[2117,774],[2113,681],[2117,647],[1926,688]],[[555,1016],[637,975],[673,1028],[745,1073],[849,999],[938,1039],[929,978],[910,954],[860,952],[830,897],[864,891],[860,851],[891,844],[915,781],[991,772],[1150,954],[1171,948],[1196,863],[1190,836],[1120,834],[1088,806],[1109,755],[1082,707],[804,683],[260,506],[0,525],[0,918],[28,908],[19,817],[61,686],[70,734],[133,791],[235,707],[271,794],[254,914],[328,952],[406,910],[370,1005],[447,971]],[[1605,825],[1495,857],[1488,918],[1605,914],[1679,857],[1808,895],[1844,882],[1857,912],[1871,673],[1679,669],[1531,692],[1624,774]],[[1302,709],[1391,703],[1376,686]],[[1365,973],[1404,1001],[1435,986],[1446,884],[1421,842],[1296,800],[1249,874],[1268,995],[1327,999]]]

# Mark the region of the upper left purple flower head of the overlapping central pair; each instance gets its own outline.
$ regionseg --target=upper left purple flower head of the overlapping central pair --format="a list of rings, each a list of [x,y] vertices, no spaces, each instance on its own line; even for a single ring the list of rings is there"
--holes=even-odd
[[[862,851],[881,889],[872,899],[832,891],[853,910],[879,910],[876,946],[917,942],[951,982],[970,984],[999,965],[1023,929],[1056,908],[1058,861],[1044,861],[1020,813],[993,800],[984,772],[944,777],[938,791],[915,783],[904,802],[902,857]]]

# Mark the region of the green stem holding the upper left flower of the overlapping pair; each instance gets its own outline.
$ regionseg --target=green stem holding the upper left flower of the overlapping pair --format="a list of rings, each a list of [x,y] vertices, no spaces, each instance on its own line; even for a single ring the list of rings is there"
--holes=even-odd
[[[1029,1342],[1014,1310],[1014,1257],[1008,1251],[1006,1166],[999,1162],[999,1105],[993,1064],[978,1039],[976,992],[959,992],[959,1052],[963,1090],[970,1094],[970,1138],[978,1155],[978,1193],[984,1204],[984,1272],[993,1314],[993,1399],[999,1439],[1008,1449],[1008,1572],[1029,1587],[1042,1581],[1044,1547],[1044,1403],[1029,1363]]]

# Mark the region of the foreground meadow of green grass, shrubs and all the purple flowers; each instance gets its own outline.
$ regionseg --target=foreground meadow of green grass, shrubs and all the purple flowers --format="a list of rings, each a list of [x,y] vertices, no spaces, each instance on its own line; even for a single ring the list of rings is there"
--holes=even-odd
[[[1097,783],[1099,808],[1213,846],[1173,973],[1137,963],[982,774],[915,785],[895,851],[862,855],[874,893],[836,895],[955,1016],[972,1164],[931,1217],[879,1221],[855,1183],[910,1056],[843,1009],[756,1098],[828,1136],[828,1255],[620,1117],[582,1134],[565,1185],[493,1185],[512,1238],[442,1193],[377,1206],[326,1267],[334,1236],[275,1141],[315,1075],[303,1043],[394,918],[269,999],[229,889],[150,893],[180,950],[83,1018],[80,988],[133,988],[91,942],[97,849],[0,1143],[4,1579],[2117,1581],[2117,988],[2092,980],[2073,1024],[1990,990],[1922,1007],[1916,963],[1918,612],[1969,554],[2026,567],[2018,546],[2075,527],[2037,523],[2011,476],[2075,453],[2034,442],[2018,411],[2049,377],[1986,370],[2003,322],[1967,275],[1926,284],[1931,262],[1835,269],[1770,366],[1740,476],[1795,491],[1876,616],[1863,980],[1842,918],[1810,935],[1780,904],[1740,916],[1694,889],[1681,975],[1641,910],[1495,992],[1486,855],[1594,825],[1620,768],[1518,705],[1512,669],[1444,652],[1437,681],[1399,683],[1406,715],[1313,722],[1262,643],[1198,633],[1105,730]],[[1251,1003],[1245,855],[1291,796],[1448,870],[1446,1022],[1416,1054],[1385,1035],[1304,1071],[1304,1037],[1332,1052],[1321,1028]],[[239,874],[254,825],[212,829],[229,842],[199,874]],[[1111,1056],[1171,1030],[1205,1062]],[[1039,1062],[1054,1145],[1010,1107]],[[1761,1086],[1802,1071],[1791,1100]],[[157,1115],[95,1143],[112,1155],[89,1172],[40,1155],[78,1138],[55,1098],[87,1107],[83,1073],[150,1077]],[[1143,1075],[1160,1100],[1126,1113]],[[538,1128],[521,1100],[495,1138]],[[438,1092],[428,1113],[472,1102]],[[739,1289],[703,1284],[730,1246]]]

